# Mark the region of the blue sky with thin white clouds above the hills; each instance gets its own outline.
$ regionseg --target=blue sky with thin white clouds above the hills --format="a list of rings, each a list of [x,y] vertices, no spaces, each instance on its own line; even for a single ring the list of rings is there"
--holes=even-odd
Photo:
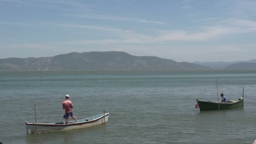
[[[256,0],[0,0],[0,59],[90,51],[256,59]]]

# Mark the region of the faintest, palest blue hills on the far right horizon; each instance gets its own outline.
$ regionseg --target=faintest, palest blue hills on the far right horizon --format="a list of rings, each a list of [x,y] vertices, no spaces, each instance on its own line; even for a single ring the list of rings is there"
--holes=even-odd
[[[192,62],[193,64],[200,64],[205,67],[213,67],[213,68],[225,68],[229,66],[230,64],[239,64],[239,63],[253,63],[256,62],[256,59],[251,59],[249,61],[232,61],[232,62],[225,62],[225,61],[214,61],[214,62],[200,62],[200,61],[195,61]]]

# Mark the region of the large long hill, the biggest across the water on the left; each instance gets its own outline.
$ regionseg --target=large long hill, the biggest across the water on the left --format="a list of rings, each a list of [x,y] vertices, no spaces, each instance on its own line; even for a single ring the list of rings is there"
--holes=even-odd
[[[114,70],[114,69],[210,69],[189,62],[156,56],[132,56],[125,52],[67,53],[40,58],[0,59],[0,70]]]

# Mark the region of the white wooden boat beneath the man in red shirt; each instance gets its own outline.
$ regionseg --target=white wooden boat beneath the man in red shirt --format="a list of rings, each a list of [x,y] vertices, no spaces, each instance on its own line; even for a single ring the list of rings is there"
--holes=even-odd
[[[66,122],[61,123],[26,123],[27,134],[31,133],[43,133],[43,132],[52,132],[52,131],[67,131],[77,128],[87,128],[95,125],[101,125],[107,123],[109,117],[109,113],[96,115],[93,117],[88,117],[85,119],[69,121],[68,124]]]

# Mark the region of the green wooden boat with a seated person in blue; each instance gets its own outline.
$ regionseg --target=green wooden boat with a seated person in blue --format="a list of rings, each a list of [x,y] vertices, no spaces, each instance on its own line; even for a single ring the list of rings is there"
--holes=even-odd
[[[232,109],[236,107],[243,107],[243,100],[244,98],[236,98],[236,99],[229,99],[227,103],[222,103],[216,101],[199,101],[197,99],[197,104],[200,110],[219,110],[219,109]]]

